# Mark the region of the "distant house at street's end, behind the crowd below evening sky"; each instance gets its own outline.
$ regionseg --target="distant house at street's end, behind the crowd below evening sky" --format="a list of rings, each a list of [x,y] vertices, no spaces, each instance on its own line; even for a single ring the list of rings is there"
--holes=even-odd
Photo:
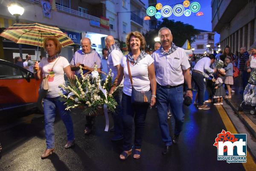
[[[214,32],[197,29],[200,34],[196,35],[195,41],[191,43],[191,48],[195,48],[194,54],[204,54],[207,51],[212,52],[214,47]],[[207,48],[206,45],[210,45]]]

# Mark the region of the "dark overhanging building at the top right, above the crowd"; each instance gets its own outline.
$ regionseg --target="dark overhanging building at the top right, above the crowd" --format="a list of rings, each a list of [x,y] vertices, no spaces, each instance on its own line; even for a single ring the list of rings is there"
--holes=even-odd
[[[223,50],[247,49],[256,41],[256,0],[212,0],[212,31],[220,34]]]

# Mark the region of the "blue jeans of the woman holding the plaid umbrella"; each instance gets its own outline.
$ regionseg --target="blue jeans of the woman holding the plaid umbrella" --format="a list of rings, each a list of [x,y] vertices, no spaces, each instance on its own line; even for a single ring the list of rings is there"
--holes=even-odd
[[[74,131],[73,131],[73,122],[70,116],[70,113],[65,110],[65,101],[61,96],[55,98],[44,98],[44,129],[46,136],[46,145],[48,149],[54,148],[54,120],[55,113],[58,110],[58,113],[61,115],[61,119],[64,122],[64,125],[67,129],[67,140],[73,141]]]

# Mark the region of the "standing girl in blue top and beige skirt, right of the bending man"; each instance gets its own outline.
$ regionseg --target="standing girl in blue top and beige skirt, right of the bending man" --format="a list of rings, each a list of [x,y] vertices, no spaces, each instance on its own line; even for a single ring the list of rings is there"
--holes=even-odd
[[[231,58],[227,56],[225,58],[225,63],[226,66],[224,69],[226,71],[226,77],[225,77],[225,84],[227,86],[227,91],[228,91],[228,96],[225,97],[226,99],[231,99],[231,87],[230,85],[234,84],[234,79],[233,79],[233,64],[231,62]]]

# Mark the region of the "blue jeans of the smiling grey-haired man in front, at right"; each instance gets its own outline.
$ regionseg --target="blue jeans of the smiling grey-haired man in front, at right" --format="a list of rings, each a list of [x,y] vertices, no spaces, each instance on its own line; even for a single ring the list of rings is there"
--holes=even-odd
[[[175,119],[175,135],[179,135],[184,123],[183,86],[166,88],[157,84],[157,112],[162,139],[165,145],[172,145],[167,122],[167,111],[170,105]]]

